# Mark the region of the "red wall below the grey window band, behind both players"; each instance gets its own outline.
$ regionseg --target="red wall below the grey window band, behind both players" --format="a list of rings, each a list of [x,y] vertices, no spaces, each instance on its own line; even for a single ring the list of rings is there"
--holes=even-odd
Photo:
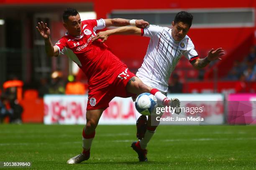
[[[191,29],[188,35],[200,57],[205,57],[211,48],[223,47],[226,53],[229,53],[253,34],[254,28],[209,28]],[[108,38],[106,44],[123,60],[127,58],[130,61],[131,59],[142,61],[148,42],[147,37],[113,35]]]

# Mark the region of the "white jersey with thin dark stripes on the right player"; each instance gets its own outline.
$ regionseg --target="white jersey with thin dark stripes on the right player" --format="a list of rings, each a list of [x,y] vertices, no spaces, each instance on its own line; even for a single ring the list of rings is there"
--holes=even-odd
[[[198,58],[191,39],[186,35],[183,40],[175,41],[171,31],[170,28],[157,25],[141,29],[141,35],[150,37],[150,42],[136,76],[146,85],[162,92],[168,91],[169,77],[182,55],[190,62]]]

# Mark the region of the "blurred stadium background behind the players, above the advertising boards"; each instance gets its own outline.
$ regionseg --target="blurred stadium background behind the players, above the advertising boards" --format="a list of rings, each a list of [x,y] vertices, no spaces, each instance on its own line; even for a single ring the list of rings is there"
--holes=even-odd
[[[223,47],[226,55],[202,70],[196,70],[182,57],[169,79],[169,93],[256,92],[256,5],[253,0],[236,3],[217,0],[215,4],[200,0],[163,0],[161,3],[142,0],[136,1],[136,6],[132,4],[117,0],[112,3],[0,1],[0,120],[9,117],[10,122],[20,122],[22,112],[44,110],[43,97],[47,94],[87,94],[87,78],[81,70],[66,56],[46,57],[44,40],[35,28],[39,21],[47,23],[51,40],[56,43],[65,34],[61,15],[67,7],[76,8],[82,20],[144,19],[164,27],[171,26],[177,12],[186,10],[194,16],[188,35],[200,58],[218,47]],[[115,35],[106,44],[136,73],[148,41],[146,37]]]

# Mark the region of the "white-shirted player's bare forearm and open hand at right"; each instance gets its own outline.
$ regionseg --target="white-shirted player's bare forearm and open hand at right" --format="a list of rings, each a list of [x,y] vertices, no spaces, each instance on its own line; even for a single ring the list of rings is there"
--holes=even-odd
[[[208,65],[211,61],[213,60],[221,60],[221,56],[224,55],[224,50],[222,48],[218,48],[217,50],[213,50],[213,48],[208,52],[207,57],[200,59],[197,58],[196,60],[193,60],[191,62],[191,64],[197,68],[197,69],[201,69],[203,67],[205,67],[206,65]]]

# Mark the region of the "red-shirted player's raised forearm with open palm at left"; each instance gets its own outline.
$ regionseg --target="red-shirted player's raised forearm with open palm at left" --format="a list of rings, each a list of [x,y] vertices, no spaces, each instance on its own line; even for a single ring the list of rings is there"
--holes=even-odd
[[[47,56],[52,57],[55,56],[57,57],[59,55],[59,49],[57,47],[54,47],[51,43],[51,38],[50,38],[50,29],[47,27],[47,24],[41,22],[38,23],[38,27],[36,27],[40,35],[44,38],[44,44],[45,44],[45,51]]]

